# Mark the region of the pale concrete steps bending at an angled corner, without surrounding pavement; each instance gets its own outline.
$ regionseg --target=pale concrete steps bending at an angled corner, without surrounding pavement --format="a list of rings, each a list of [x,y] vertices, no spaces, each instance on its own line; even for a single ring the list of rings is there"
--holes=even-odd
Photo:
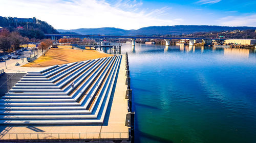
[[[121,59],[118,55],[28,72],[0,99],[0,124],[102,124]],[[47,78],[52,83],[42,82]]]

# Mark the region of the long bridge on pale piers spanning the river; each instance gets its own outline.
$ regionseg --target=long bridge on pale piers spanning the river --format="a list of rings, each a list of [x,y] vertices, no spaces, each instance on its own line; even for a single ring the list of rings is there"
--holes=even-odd
[[[76,37],[76,38],[122,38],[122,39],[130,39],[132,40],[132,45],[135,45],[136,39],[164,39],[165,45],[168,46],[170,44],[170,40],[172,39],[189,39],[189,45],[194,45],[194,40],[226,40],[221,38],[193,38],[193,37],[151,37],[151,36],[105,36],[105,35],[76,35],[76,34],[45,34],[45,36],[51,37],[53,40],[55,37]]]

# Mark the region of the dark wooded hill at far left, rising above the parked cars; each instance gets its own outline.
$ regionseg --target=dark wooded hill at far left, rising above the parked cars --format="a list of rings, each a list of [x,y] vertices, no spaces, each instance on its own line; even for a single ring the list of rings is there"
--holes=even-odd
[[[18,32],[29,39],[43,39],[45,34],[59,34],[55,28],[45,21],[36,18],[16,18],[0,16],[0,26],[7,28],[10,32]]]

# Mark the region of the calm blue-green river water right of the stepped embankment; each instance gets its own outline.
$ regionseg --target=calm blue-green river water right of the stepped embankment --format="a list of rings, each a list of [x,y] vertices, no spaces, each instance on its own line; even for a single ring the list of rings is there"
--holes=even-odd
[[[135,142],[256,142],[254,50],[122,45]]]

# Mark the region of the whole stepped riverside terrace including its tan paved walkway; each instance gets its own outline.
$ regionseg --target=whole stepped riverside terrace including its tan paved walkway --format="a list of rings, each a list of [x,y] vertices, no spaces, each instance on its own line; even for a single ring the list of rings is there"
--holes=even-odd
[[[0,99],[0,137],[127,140],[125,91],[122,55],[27,72]]]

